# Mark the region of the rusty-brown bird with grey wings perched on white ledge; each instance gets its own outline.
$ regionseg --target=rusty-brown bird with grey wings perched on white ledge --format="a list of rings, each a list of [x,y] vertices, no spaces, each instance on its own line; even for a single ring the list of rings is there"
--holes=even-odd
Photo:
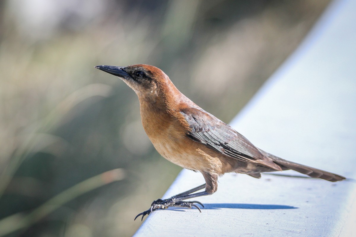
[[[164,158],[183,168],[200,172],[205,183],[168,199],[157,199],[150,209],[135,217],[150,215],[170,206],[204,207],[187,199],[211,195],[218,188],[218,177],[225,173],[244,173],[260,178],[262,172],[294,171],[335,182],[338,174],[301,165],[257,148],[230,125],[206,112],[183,95],[169,77],[151,65],[99,65],[95,68],[118,76],[138,96],[143,128],[153,146]],[[197,192],[202,190],[201,192]]]

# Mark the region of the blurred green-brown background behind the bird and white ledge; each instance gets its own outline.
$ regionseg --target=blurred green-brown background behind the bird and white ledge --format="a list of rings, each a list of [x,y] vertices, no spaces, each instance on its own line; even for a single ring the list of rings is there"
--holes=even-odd
[[[181,170],[94,66],[155,65],[229,123],[329,2],[0,1],[0,236],[131,236]]]

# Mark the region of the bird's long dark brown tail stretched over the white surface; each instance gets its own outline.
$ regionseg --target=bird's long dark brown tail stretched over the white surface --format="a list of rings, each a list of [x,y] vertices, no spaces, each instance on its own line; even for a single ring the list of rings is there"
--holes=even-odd
[[[299,173],[302,174],[307,174],[310,177],[313,178],[321,178],[321,179],[325,179],[331,182],[335,182],[335,181],[340,181],[343,179],[346,179],[345,177],[338,175],[338,174],[334,174],[334,173],[330,173],[327,171],[323,171],[321,169],[316,169],[313,167],[309,167],[309,166],[305,166],[305,165],[301,165],[298,163],[294,163],[292,161],[286,161],[283,160],[282,158],[272,155],[268,152],[262,151],[264,152],[268,157],[273,159],[273,162],[276,163],[277,165],[281,166],[281,168],[283,170],[287,170],[287,169],[293,169]]]

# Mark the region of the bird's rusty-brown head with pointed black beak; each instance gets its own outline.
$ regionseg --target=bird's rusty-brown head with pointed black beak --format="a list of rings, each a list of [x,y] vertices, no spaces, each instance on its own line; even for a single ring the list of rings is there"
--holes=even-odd
[[[178,91],[169,77],[155,66],[145,64],[124,67],[100,65],[95,68],[120,77],[136,92],[140,99],[156,101],[157,98],[163,98],[167,94],[167,90]]]

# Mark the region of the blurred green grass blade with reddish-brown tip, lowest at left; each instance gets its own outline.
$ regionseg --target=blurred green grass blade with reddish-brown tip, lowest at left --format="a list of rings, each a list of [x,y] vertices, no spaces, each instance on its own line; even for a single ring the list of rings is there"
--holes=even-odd
[[[124,179],[124,169],[112,169],[82,181],[38,206],[30,214],[16,213],[0,220],[0,237],[22,228],[29,227],[52,211],[78,196],[105,184]]]

